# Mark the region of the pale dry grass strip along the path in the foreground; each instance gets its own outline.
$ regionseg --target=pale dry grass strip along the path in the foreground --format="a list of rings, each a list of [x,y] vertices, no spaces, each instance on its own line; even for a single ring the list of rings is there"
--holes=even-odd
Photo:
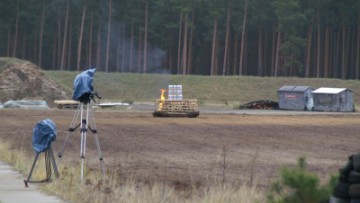
[[[21,149],[9,149],[10,143],[0,142],[0,158],[23,174],[28,174],[34,157],[25,155]],[[39,157],[41,160],[42,157]],[[45,166],[38,161],[33,179],[44,178]],[[106,177],[99,171],[85,167],[85,178],[80,181],[78,164],[62,160],[60,177],[41,189],[58,195],[69,202],[263,202],[264,191],[256,184],[227,185],[218,181],[211,185],[174,185],[164,180],[148,181],[137,177],[124,177],[108,170]]]

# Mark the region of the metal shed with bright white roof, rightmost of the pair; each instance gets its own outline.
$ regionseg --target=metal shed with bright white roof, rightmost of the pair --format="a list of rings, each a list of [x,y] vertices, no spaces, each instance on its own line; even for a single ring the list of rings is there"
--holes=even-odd
[[[347,88],[321,87],[313,91],[315,111],[354,111],[353,92]]]

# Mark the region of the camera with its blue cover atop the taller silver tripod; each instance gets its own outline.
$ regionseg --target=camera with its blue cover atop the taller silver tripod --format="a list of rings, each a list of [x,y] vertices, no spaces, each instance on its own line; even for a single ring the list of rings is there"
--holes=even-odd
[[[73,100],[88,104],[91,100],[96,103],[95,99],[101,99],[101,96],[94,91],[93,80],[95,71],[96,68],[90,68],[76,76],[74,80]]]

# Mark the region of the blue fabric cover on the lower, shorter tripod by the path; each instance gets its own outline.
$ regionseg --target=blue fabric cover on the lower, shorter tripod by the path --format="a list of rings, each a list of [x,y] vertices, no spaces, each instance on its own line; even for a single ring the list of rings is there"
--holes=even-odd
[[[50,119],[39,121],[33,129],[33,149],[36,153],[43,152],[51,147],[56,139],[56,126]]]

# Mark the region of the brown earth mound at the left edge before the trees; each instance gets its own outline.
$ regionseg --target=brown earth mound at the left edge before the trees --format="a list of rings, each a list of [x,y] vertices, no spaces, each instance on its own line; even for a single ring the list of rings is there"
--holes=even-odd
[[[0,99],[42,99],[52,103],[68,98],[55,81],[45,76],[39,67],[29,61],[0,58]]]

